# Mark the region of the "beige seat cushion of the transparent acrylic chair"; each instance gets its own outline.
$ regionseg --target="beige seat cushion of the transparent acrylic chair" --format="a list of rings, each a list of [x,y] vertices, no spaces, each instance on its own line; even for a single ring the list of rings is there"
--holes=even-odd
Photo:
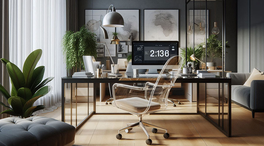
[[[145,100],[139,97],[124,98],[116,100],[116,104],[124,110],[141,113],[144,112],[148,107],[149,100]],[[160,109],[160,104],[151,101],[150,108],[148,111],[154,111]]]

